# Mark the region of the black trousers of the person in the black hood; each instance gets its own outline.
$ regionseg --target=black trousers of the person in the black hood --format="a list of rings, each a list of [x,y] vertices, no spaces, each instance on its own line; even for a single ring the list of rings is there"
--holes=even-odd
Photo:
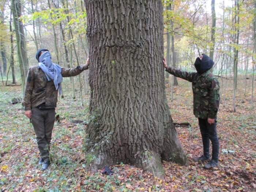
[[[217,121],[214,124],[209,124],[207,119],[198,118],[200,132],[203,141],[204,156],[210,158],[210,140],[212,143],[212,160],[218,162],[219,160],[219,139],[217,136]]]

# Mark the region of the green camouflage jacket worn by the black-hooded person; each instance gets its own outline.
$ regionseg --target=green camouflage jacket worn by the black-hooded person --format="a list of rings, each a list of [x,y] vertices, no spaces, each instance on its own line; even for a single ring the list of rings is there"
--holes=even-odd
[[[173,67],[167,67],[170,74],[192,82],[193,112],[198,118],[216,118],[219,109],[219,82],[215,76],[207,70],[203,74],[186,72]]]

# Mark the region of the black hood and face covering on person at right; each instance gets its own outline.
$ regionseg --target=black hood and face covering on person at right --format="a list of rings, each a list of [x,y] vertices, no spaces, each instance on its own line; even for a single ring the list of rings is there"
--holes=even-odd
[[[199,57],[196,58],[195,68],[197,73],[202,74],[212,68],[213,64],[212,59],[208,55],[203,54],[202,60]]]

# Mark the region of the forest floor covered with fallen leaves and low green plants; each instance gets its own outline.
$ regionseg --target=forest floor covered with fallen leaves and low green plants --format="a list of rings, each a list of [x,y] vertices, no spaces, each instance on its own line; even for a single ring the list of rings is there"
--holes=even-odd
[[[219,79],[219,81],[221,81]],[[224,80],[224,83],[225,84]],[[53,129],[49,169],[42,171],[37,165],[38,149],[35,133],[22,105],[11,104],[20,97],[21,87],[0,87],[0,189],[1,191],[256,191],[256,92],[251,103],[251,82],[238,80],[236,112],[232,112],[233,86],[227,81],[225,102],[218,112],[217,131],[220,141],[219,166],[203,169],[202,163],[192,161],[202,154],[202,141],[193,116],[191,83],[178,79],[174,86],[173,102],[167,86],[166,95],[174,122],[188,122],[190,128],[177,127],[178,137],[190,160],[188,166],[163,162],[165,177],[155,177],[134,166],[113,166],[114,174],[106,176],[86,171],[86,154],[83,138],[86,125],[73,120],[88,121],[89,95],[72,99],[64,87],[56,113],[60,123]],[[255,81],[256,87],[256,81]],[[223,87],[224,93],[224,87]],[[222,95],[223,96],[223,95]],[[230,152],[230,153],[227,153]]]

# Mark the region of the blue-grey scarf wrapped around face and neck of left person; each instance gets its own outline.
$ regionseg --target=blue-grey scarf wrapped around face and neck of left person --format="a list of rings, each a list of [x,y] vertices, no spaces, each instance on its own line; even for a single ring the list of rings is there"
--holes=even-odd
[[[41,54],[38,65],[44,71],[48,81],[53,80],[56,90],[59,89],[61,95],[62,75],[60,65],[52,63],[52,56],[48,51]]]

